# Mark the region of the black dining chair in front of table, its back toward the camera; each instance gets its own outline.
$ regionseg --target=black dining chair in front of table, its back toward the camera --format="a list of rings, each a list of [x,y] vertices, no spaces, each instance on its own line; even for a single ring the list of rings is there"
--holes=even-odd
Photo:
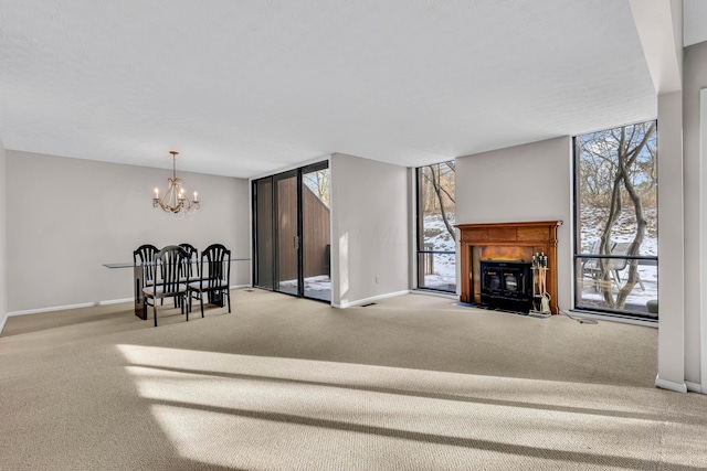
[[[182,272],[184,270],[184,260],[187,259],[187,253],[178,245],[168,245],[161,250],[155,254],[152,263],[155,266],[159,266],[161,278],[154,285],[143,288],[144,307],[147,312],[147,307],[152,307],[155,315],[155,327],[157,327],[157,300],[160,301],[165,298],[173,298],[175,306],[181,308],[181,313],[187,314],[187,321],[189,321],[189,312],[186,309],[187,285],[182,280]],[[151,303],[150,303],[151,300]]]

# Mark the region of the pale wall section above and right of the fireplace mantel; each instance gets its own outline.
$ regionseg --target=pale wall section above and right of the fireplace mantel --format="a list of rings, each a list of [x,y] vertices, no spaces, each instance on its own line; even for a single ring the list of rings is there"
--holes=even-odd
[[[571,160],[569,137],[456,159],[457,224],[562,221],[557,269],[564,310],[573,289]]]

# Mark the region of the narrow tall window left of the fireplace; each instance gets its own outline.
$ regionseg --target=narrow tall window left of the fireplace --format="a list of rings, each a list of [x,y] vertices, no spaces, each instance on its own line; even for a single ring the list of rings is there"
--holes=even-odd
[[[418,288],[456,291],[454,161],[418,169]]]

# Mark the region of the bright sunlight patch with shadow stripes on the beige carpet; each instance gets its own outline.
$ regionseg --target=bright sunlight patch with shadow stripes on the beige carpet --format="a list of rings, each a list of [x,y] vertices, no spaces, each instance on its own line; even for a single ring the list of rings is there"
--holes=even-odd
[[[665,438],[659,392],[645,388],[118,347],[180,454],[214,465],[273,468],[284,453],[297,457],[294,468],[365,469],[384,456],[439,469],[483,453],[489,465],[569,456],[640,468]]]

